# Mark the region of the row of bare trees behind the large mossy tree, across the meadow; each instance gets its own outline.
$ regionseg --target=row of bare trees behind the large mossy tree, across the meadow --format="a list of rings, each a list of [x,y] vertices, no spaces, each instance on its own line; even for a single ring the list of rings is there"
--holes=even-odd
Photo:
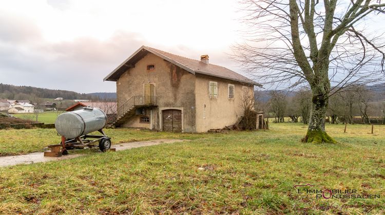
[[[329,123],[385,123],[385,101],[378,100],[378,92],[365,87],[348,88],[329,98],[325,121]],[[312,93],[302,88],[296,92],[270,91],[263,101],[262,91],[256,91],[256,109],[274,122],[309,122]]]

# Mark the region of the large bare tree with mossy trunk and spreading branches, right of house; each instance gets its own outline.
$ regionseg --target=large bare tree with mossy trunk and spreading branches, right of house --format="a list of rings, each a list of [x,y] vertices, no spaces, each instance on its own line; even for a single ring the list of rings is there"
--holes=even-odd
[[[336,142],[324,127],[331,92],[385,77],[383,32],[370,32],[364,25],[365,17],[379,19],[385,4],[381,0],[242,3],[247,28],[245,42],[234,47],[235,59],[265,85],[308,85],[312,109],[303,140]]]

